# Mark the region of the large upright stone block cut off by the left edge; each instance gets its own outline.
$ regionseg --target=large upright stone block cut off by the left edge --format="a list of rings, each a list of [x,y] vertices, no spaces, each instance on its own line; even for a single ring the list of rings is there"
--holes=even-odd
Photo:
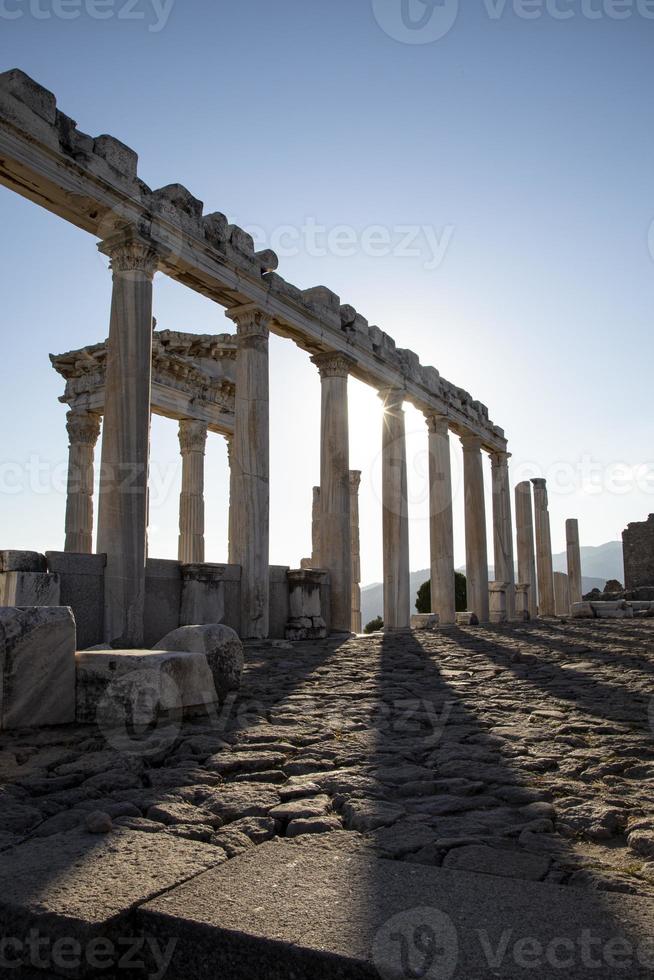
[[[0,609],[0,729],[75,721],[70,609]]]

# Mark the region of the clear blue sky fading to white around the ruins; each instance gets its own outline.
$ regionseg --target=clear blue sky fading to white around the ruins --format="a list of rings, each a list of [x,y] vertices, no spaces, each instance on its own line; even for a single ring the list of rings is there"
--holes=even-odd
[[[600,544],[654,510],[654,20],[635,2],[617,20],[609,0],[592,0],[591,19],[589,2],[559,0],[573,13],[559,20],[544,5],[525,19],[510,2],[500,14],[497,2],[466,0],[445,36],[418,44],[398,40],[419,39],[402,0],[176,0],[163,26],[152,0],[138,0],[138,20],[118,16],[125,0],[109,0],[106,20],[91,16],[91,0],[71,20],[54,16],[53,0],[2,0],[0,61],[54,91],[85,132],[136,149],[153,188],[183,183],[205,210],[267,241],[296,229],[282,238],[296,244],[282,275],[329,286],[484,401],[506,429],[516,477],[550,478],[558,551],[566,517],[579,517],[582,543]],[[454,10],[446,0],[433,13]],[[431,30],[421,0],[408,12]],[[307,223],[332,230],[329,246],[311,241]],[[351,230],[335,238],[343,225]],[[386,254],[370,254],[372,226],[386,229]],[[428,229],[419,254],[401,254],[403,226]],[[0,546],[58,548],[67,440],[47,355],[106,336],[110,275],[90,236],[2,188],[0,228]],[[160,276],[155,312],[162,328],[231,330],[219,308]],[[288,341],[273,340],[271,371],[271,557],[295,565],[310,552],[319,381]],[[366,583],[381,577],[381,422],[374,393],[353,382],[351,395]],[[425,437],[417,413],[407,424],[420,568]],[[210,442],[208,557],[221,561],[226,455]],[[458,446],[453,454],[456,475]],[[155,419],[152,461],[150,552],[174,557],[170,422]],[[621,463],[628,480],[611,487]],[[456,525],[462,561],[460,492]]]

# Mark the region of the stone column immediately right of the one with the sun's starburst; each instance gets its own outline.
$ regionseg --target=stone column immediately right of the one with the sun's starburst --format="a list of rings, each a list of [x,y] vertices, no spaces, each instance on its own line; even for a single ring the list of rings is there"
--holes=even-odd
[[[427,416],[429,429],[429,540],[431,609],[441,624],[456,622],[454,522],[450,431],[443,415]]]

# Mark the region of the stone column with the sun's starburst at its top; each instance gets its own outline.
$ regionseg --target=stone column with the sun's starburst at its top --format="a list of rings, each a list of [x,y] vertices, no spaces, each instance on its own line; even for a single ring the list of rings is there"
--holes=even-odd
[[[411,625],[409,508],[407,490],[405,392],[382,388],[382,533],[384,554],[384,629]]]

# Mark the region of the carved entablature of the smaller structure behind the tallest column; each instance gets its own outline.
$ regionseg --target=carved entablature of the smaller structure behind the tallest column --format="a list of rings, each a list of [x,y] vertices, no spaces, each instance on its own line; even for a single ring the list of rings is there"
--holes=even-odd
[[[236,342],[231,334],[161,330],[152,339],[152,411],[167,418],[206,422],[212,432],[234,431]],[[66,381],[60,401],[101,415],[107,344],[51,354]]]

